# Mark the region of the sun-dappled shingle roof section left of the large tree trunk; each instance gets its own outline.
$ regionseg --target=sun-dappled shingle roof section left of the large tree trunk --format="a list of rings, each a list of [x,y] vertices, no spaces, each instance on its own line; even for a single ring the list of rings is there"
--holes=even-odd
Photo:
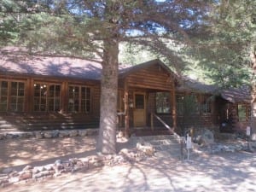
[[[36,74],[77,79],[101,79],[102,65],[70,57],[34,56],[1,51],[1,73]]]

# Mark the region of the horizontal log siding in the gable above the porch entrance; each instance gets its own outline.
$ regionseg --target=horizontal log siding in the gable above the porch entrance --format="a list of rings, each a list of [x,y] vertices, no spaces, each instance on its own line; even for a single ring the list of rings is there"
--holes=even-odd
[[[172,82],[169,74],[159,66],[150,66],[127,76],[129,87],[141,87],[154,90],[171,90]]]

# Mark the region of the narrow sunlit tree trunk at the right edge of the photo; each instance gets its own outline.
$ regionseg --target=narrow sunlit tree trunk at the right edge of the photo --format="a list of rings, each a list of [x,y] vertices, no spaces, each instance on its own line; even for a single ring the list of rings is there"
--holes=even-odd
[[[253,78],[256,75],[256,53],[255,50],[251,53],[251,59],[253,62]],[[252,102],[251,102],[251,139],[256,141],[256,84],[253,79],[252,84]]]

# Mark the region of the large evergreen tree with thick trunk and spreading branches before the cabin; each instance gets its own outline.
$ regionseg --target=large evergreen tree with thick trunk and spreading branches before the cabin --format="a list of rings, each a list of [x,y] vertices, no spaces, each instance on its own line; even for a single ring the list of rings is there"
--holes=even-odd
[[[214,2],[214,1],[213,1]],[[102,61],[98,150],[115,153],[119,44],[142,45],[179,67],[170,47],[190,45],[205,25],[211,1],[3,0],[1,44],[25,45],[32,54],[76,55]],[[170,42],[172,42],[170,46]]]

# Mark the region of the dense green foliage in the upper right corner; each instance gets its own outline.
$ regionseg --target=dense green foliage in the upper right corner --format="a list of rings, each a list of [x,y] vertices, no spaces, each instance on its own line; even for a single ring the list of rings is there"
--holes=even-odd
[[[219,1],[212,7],[208,26],[191,41],[185,52],[201,65],[205,75],[223,87],[252,82],[252,58],[256,46],[256,2]]]

